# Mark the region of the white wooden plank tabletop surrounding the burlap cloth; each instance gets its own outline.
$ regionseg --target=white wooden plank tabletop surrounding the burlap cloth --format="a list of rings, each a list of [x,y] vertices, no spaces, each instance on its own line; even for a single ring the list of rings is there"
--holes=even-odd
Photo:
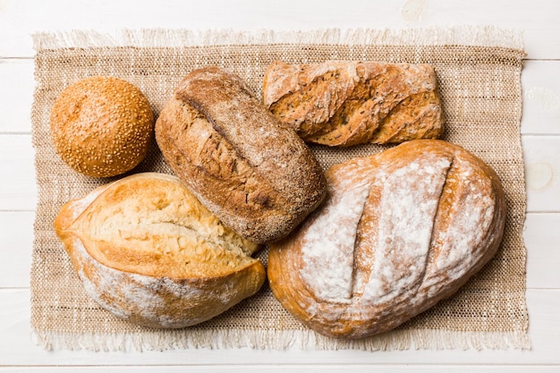
[[[524,30],[522,145],[527,176],[530,351],[189,350],[47,352],[30,330],[37,202],[30,33],[187,28],[310,30],[495,25]],[[556,0],[0,0],[0,372],[560,371],[560,3]],[[110,367],[107,366],[118,366]]]

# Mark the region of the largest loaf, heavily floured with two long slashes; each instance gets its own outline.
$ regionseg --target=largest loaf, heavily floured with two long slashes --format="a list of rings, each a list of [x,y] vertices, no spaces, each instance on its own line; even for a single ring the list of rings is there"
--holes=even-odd
[[[335,165],[327,191],[270,246],[267,267],[278,301],[323,335],[360,338],[403,324],[456,292],[502,240],[498,177],[442,140]]]

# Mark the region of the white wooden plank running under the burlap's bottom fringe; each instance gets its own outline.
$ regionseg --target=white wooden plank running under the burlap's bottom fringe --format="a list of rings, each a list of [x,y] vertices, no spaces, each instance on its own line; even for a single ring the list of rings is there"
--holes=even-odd
[[[104,366],[168,365],[231,366],[318,364],[357,365],[526,365],[560,364],[560,290],[527,292],[532,350],[407,350],[387,352],[288,351],[243,349],[174,350],[166,352],[48,352],[36,346],[30,330],[29,290],[0,289],[0,365],[4,366]]]

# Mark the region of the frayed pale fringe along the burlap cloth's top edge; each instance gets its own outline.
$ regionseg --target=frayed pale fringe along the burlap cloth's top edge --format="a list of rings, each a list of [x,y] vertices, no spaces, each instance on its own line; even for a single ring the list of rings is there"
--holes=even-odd
[[[87,47],[192,47],[262,44],[350,45],[466,45],[522,49],[521,30],[494,26],[402,30],[119,30],[114,35],[94,30],[38,32],[33,35],[37,52],[58,48]]]

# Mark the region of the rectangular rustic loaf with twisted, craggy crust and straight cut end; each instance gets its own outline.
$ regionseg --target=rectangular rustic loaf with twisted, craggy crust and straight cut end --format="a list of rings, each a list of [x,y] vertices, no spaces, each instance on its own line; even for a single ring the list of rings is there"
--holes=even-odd
[[[303,140],[328,146],[437,139],[444,131],[428,64],[276,61],[265,74],[263,102]]]

